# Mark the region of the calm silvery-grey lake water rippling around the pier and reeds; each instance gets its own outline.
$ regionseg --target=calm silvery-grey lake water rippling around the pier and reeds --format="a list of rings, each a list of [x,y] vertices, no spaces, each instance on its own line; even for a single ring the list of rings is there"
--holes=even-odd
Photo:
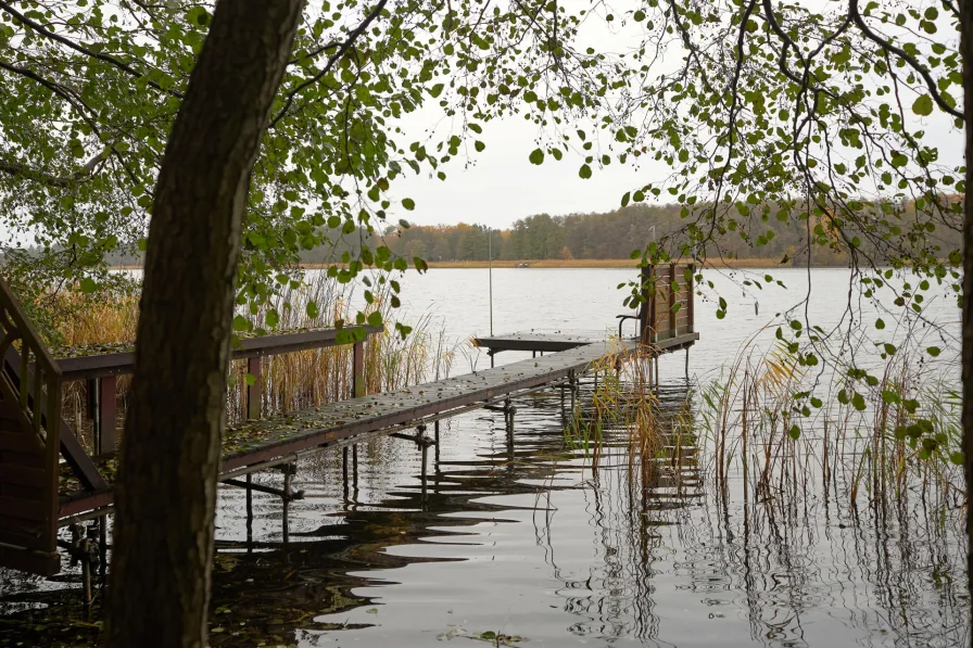
[[[494,270],[494,331],[616,330],[623,297],[616,285],[631,275]],[[753,289],[756,308],[754,296],[734,283],[740,275],[712,277],[729,315],[717,320],[715,303],[697,300],[694,384],[718,376],[775,313],[807,293],[805,271],[773,275],[788,289]],[[816,322],[834,326],[849,317],[849,274],[820,269],[812,277],[808,309]],[[872,307],[860,306],[873,321]],[[485,333],[488,272],[407,278],[403,312],[406,320],[428,315],[454,340]],[[952,376],[955,298],[942,290],[927,316],[942,327],[915,322],[915,330],[945,350],[934,367]],[[889,340],[901,334],[889,326]],[[758,338],[769,347],[772,332]],[[859,344],[846,353],[852,352],[868,350]],[[682,411],[687,397],[693,402],[683,363],[682,354],[661,361],[664,418]],[[452,371],[475,366],[489,359],[468,351],[457,354]],[[593,387],[582,384],[582,402]],[[565,443],[559,392],[515,405],[513,443],[502,412],[444,421],[439,447],[426,450],[425,479],[422,452],[396,439],[359,445],[346,467],[341,450],[302,460],[293,485],[306,495],[289,506],[286,528],[280,500],[256,493],[248,534],[242,491],[222,488],[211,644],[834,648],[969,641],[959,511],[918,491],[902,493],[892,508],[867,497],[856,508],[810,483],[797,487],[800,497],[745,506],[738,475],[723,491],[693,461],[632,466],[623,440],[610,435],[593,470],[583,448]],[[281,481],[274,472],[254,479]],[[77,612],[78,585],[76,577],[63,581],[4,574],[0,622],[43,630],[4,631],[0,646],[25,638],[84,645],[94,636],[64,621],[65,610]]]

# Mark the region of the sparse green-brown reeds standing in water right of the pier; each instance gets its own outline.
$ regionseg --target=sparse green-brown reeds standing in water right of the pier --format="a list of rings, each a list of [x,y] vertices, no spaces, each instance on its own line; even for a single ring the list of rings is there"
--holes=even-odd
[[[697,421],[717,485],[729,493],[741,477],[745,498],[795,501],[820,485],[851,506],[862,495],[874,503],[918,490],[959,506],[959,398],[924,371],[901,350],[881,378],[821,384],[786,347],[745,345],[702,390]],[[806,394],[821,396],[796,397]]]

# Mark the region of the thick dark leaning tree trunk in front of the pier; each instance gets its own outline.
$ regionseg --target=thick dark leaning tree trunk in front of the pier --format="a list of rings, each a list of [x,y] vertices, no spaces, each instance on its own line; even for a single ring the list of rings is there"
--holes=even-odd
[[[303,0],[219,0],[155,188],[109,645],[206,645],[240,223]]]

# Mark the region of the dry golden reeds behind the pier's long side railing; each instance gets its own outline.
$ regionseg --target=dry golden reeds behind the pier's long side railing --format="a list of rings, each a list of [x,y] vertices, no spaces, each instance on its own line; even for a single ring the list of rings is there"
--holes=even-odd
[[[274,308],[279,321],[268,333],[315,328],[332,328],[336,321],[350,321],[350,295],[325,272],[309,271],[305,280],[292,284],[277,298],[268,301],[254,313],[240,313],[254,327],[265,322],[266,313]],[[395,313],[387,295],[377,295],[371,308],[380,309],[386,322]],[[118,291],[113,296],[86,295],[79,290],[62,290],[56,300],[62,317],[56,331],[49,336],[59,356],[90,355],[131,348],[138,322],[136,291]],[[314,301],[318,315],[309,317],[305,305]],[[403,339],[391,326],[384,333],[365,343],[365,384],[368,393],[394,390],[430,378],[448,376],[455,348],[446,343],[444,331],[433,330],[430,317],[420,317],[413,331]],[[312,348],[262,358],[262,414],[295,410],[348,398],[352,395],[351,345]],[[228,368],[228,422],[241,422],[247,417],[247,386],[254,380],[248,374],[247,361],[235,360]],[[119,377],[117,396],[119,412],[124,415],[129,379]],[[64,389],[65,417],[72,420],[81,440],[90,443],[91,421],[86,412],[86,385],[67,383]],[[119,416],[118,427],[122,427]],[[90,447],[90,446],[89,446]]]

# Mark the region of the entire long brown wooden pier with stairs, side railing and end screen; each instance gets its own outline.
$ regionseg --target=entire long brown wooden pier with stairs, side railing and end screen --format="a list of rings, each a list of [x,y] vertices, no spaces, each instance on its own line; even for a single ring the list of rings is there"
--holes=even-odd
[[[565,382],[573,385],[577,377],[604,368],[606,361],[688,350],[698,339],[693,331],[692,282],[678,282],[677,271],[675,266],[669,268],[666,277],[671,281],[660,287],[662,282],[653,279],[654,268],[643,270],[643,278],[649,280],[643,284],[639,314],[626,316],[639,322],[631,338],[533,332],[479,338],[476,343],[488,350],[491,365],[502,351],[531,351],[535,357],[382,394],[365,394],[363,345],[381,332],[365,328],[364,339],[354,344],[354,386],[349,399],[262,419],[261,381],[249,387],[251,420],[226,431],[219,480],[250,487],[237,479],[323,448],[358,443],[370,434],[424,429],[427,422],[508,403],[519,394]],[[687,305],[682,316],[683,308],[674,304]],[[2,281],[0,327],[4,359],[0,369],[0,567],[51,575],[61,570],[59,547],[76,552],[78,546],[59,539],[59,529],[102,517],[111,509],[115,379],[131,371],[134,353],[121,350],[55,358]],[[247,359],[249,372],[260,376],[265,355],[333,346],[337,339],[333,330],[267,335],[244,340],[233,357]],[[72,380],[88,384],[94,421],[90,453],[61,416],[61,387]],[[289,492],[281,496],[292,497]],[[104,547],[104,524],[100,529]]]

